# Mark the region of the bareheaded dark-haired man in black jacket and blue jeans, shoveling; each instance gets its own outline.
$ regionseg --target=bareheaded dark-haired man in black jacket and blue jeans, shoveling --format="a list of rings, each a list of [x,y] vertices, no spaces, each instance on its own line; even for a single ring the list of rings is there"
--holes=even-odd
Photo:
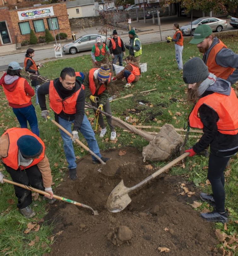
[[[64,142],[65,157],[68,162],[69,178],[77,179],[76,158],[73,150],[73,143],[78,137],[78,131],[86,139],[89,148],[106,162],[109,158],[102,157],[95,138],[94,131],[89,120],[84,115],[84,85],[79,80],[73,68],[64,68],[60,77],[54,81],[46,82],[38,89],[38,100],[41,107],[41,116],[47,119],[49,112],[46,107],[45,95],[49,94],[49,107],[55,112],[55,121],[63,126],[68,132],[72,133],[73,139],[60,130]],[[71,124],[73,123],[73,132]],[[92,156],[93,163],[100,162]]]

